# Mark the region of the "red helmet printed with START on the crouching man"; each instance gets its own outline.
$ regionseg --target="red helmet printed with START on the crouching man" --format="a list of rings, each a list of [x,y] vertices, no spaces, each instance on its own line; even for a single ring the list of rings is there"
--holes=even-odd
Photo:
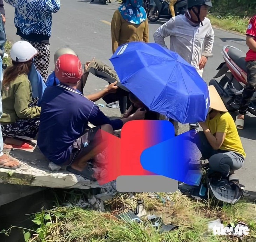
[[[55,76],[60,82],[76,83],[82,76],[82,64],[75,55],[61,55],[55,63]]]

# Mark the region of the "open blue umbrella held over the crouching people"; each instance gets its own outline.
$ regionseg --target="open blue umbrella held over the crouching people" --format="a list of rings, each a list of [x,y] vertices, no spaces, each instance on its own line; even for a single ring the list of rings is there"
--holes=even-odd
[[[130,42],[110,58],[120,82],[151,111],[180,123],[204,121],[207,84],[196,69],[157,43]]]

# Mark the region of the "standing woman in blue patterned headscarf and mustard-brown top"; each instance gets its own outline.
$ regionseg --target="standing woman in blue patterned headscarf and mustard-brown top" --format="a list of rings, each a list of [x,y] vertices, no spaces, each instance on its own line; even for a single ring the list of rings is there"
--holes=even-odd
[[[122,44],[143,41],[149,42],[148,20],[142,0],[123,0],[114,12],[111,21],[112,51]],[[119,100],[121,115],[126,113],[131,103],[127,97]]]

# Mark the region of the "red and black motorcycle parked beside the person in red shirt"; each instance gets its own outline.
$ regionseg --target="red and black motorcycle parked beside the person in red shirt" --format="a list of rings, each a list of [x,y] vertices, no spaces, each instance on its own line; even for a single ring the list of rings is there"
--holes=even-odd
[[[247,84],[245,53],[236,47],[224,46],[221,54],[225,62],[219,65],[218,73],[214,78],[224,76],[220,82],[211,79],[209,85],[214,85],[217,89],[228,111],[235,112],[239,109],[237,104],[240,102],[244,86]],[[256,92],[251,99],[248,112],[256,116]]]

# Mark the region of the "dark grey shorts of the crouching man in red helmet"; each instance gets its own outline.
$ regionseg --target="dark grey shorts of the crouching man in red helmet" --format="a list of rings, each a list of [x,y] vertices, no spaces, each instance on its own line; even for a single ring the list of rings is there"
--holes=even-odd
[[[69,166],[77,159],[80,159],[81,157],[88,154],[90,151],[93,150],[93,148],[96,145],[96,140],[100,141],[100,137],[95,137],[95,134],[97,131],[101,129],[101,125],[97,127],[93,127],[90,129],[87,129],[82,136],[80,136],[78,139],[74,141],[74,143],[71,145],[72,147],[72,153],[69,156],[69,159],[65,161],[65,163],[61,164],[62,166]],[[97,133],[100,135],[100,132]]]

